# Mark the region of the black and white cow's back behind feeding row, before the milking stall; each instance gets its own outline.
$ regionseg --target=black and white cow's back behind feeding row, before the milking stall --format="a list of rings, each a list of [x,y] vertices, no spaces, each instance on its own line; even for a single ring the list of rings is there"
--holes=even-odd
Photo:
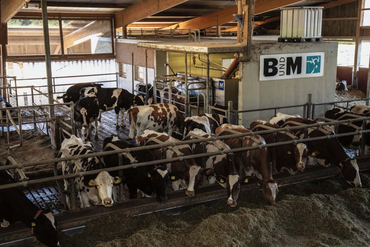
[[[229,123],[229,120],[220,114],[203,113],[198,116],[186,117],[184,123],[181,125],[183,137],[189,131],[199,128],[208,134],[215,134],[216,128],[222,124]]]

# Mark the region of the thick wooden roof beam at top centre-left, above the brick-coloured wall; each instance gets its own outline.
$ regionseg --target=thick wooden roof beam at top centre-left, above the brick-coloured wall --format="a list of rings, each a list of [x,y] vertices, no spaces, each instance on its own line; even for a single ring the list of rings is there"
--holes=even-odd
[[[144,19],[145,17],[157,14],[166,9],[170,9],[178,4],[184,3],[187,0],[145,0],[129,6],[127,9],[121,10],[115,14],[116,27],[127,26]]]

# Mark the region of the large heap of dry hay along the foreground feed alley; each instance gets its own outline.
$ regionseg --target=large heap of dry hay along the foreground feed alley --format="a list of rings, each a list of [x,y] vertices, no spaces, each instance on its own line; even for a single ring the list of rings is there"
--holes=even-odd
[[[60,241],[64,247],[370,246],[370,173],[361,181],[363,188],[351,188],[339,176],[295,185],[273,206],[252,191],[240,195],[236,208],[223,198],[177,216],[115,213],[93,219],[73,237],[61,233]]]

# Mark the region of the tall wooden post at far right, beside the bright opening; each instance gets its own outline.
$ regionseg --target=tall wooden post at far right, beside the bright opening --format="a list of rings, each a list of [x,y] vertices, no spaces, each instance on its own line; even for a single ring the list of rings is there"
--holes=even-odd
[[[365,0],[359,0],[359,7],[357,11],[357,25],[356,25],[356,44],[354,48],[354,65],[353,65],[353,79],[352,85],[357,89],[358,88],[358,76],[359,76],[359,67],[360,67],[360,58],[361,58],[361,26],[363,23],[363,11],[365,7]]]

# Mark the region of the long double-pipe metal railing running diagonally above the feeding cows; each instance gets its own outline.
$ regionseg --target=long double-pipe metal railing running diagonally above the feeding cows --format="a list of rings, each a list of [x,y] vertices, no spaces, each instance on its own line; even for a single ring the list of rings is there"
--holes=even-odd
[[[330,123],[315,123],[315,124],[308,124],[308,125],[303,125],[303,126],[283,127],[283,128],[256,131],[256,132],[249,132],[249,133],[230,134],[230,135],[226,135],[226,136],[217,136],[217,137],[202,138],[202,139],[196,139],[196,140],[176,141],[176,142],[173,142],[173,143],[162,143],[162,144],[155,144],[155,145],[150,145],[150,146],[124,148],[124,149],[117,149],[117,150],[111,150],[111,151],[102,151],[102,152],[98,152],[98,153],[90,153],[90,154],[83,154],[83,155],[77,155],[77,156],[68,156],[68,157],[53,158],[53,159],[48,159],[48,160],[31,161],[31,162],[19,163],[19,164],[16,163],[13,160],[13,158],[8,157],[7,161],[6,161],[6,166],[1,166],[0,170],[18,169],[18,171],[19,171],[19,170],[22,170],[22,168],[24,168],[24,167],[31,167],[31,166],[37,166],[37,165],[40,165],[40,164],[49,164],[49,163],[54,163],[54,168],[56,170],[57,163],[61,162],[61,161],[73,161],[73,160],[78,160],[78,159],[81,159],[81,158],[105,156],[105,155],[112,155],[112,154],[118,154],[118,155],[120,155],[120,154],[129,154],[132,151],[150,150],[150,149],[155,149],[155,148],[175,147],[175,146],[183,145],[183,144],[206,143],[206,142],[209,142],[209,141],[216,141],[216,140],[226,140],[226,139],[231,139],[231,138],[243,138],[243,137],[253,136],[253,135],[256,135],[256,134],[261,135],[261,134],[275,133],[275,132],[280,132],[280,131],[291,131],[291,130],[300,130],[300,129],[307,129],[307,128],[318,128],[318,127],[332,125],[332,124],[351,123],[351,122],[354,122],[354,121],[366,121],[366,120],[370,120],[370,117],[362,117],[362,118],[359,118],[359,119],[350,119],[350,120],[340,120],[340,121],[334,121],[334,122],[330,122]],[[47,181],[56,181],[56,180],[61,180],[61,179],[68,179],[68,178],[81,177],[81,176],[86,176],[86,175],[91,175],[91,174],[98,174],[101,171],[107,171],[107,172],[121,171],[121,170],[129,169],[129,168],[137,168],[137,167],[149,166],[149,165],[166,164],[166,163],[172,163],[172,162],[176,162],[176,161],[188,160],[188,159],[191,159],[191,158],[203,158],[203,157],[215,156],[215,155],[224,154],[224,153],[238,153],[238,152],[242,152],[242,151],[249,151],[249,150],[260,149],[260,148],[265,148],[265,147],[267,148],[267,147],[283,146],[283,145],[287,145],[287,144],[306,143],[306,142],[309,142],[309,141],[326,140],[326,139],[330,139],[330,138],[350,136],[350,135],[359,135],[359,134],[363,134],[363,133],[370,133],[370,130],[359,130],[358,129],[358,130],[356,130],[354,132],[351,132],[351,133],[329,134],[329,135],[324,135],[324,136],[320,136],[320,137],[304,138],[304,139],[298,139],[298,140],[293,140],[292,139],[290,141],[285,141],[285,142],[280,142],[280,143],[271,143],[271,144],[259,143],[255,146],[249,146],[249,147],[242,147],[242,144],[239,141],[239,148],[233,148],[233,149],[229,149],[229,150],[219,150],[219,151],[211,152],[211,153],[193,154],[193,155],[189,155],[189,156],[178,156],[178,157],[175,157],[175,158],[164,158],[162,160],[148,161],[148,162],[142,162],[142,163],[132,162],[132,164],[127,164],[127,165],[123,165],[123,166],[103,168],[103,169],[92,170],[92,171],[77,171],[76,173],[65,174],[65,175],[55,174],[55,176],[53,176],[53,177],[40,178],[40,179],[35,179],[35,180],[23,179],[23,181],[18,182],[18,183],[1,185],[0,189],[20,187],[20,186],[28,186],[30,184],[43,183],[43,182],[47,182]],[[203,167],[204,167],[204,164],[203,164]]]

